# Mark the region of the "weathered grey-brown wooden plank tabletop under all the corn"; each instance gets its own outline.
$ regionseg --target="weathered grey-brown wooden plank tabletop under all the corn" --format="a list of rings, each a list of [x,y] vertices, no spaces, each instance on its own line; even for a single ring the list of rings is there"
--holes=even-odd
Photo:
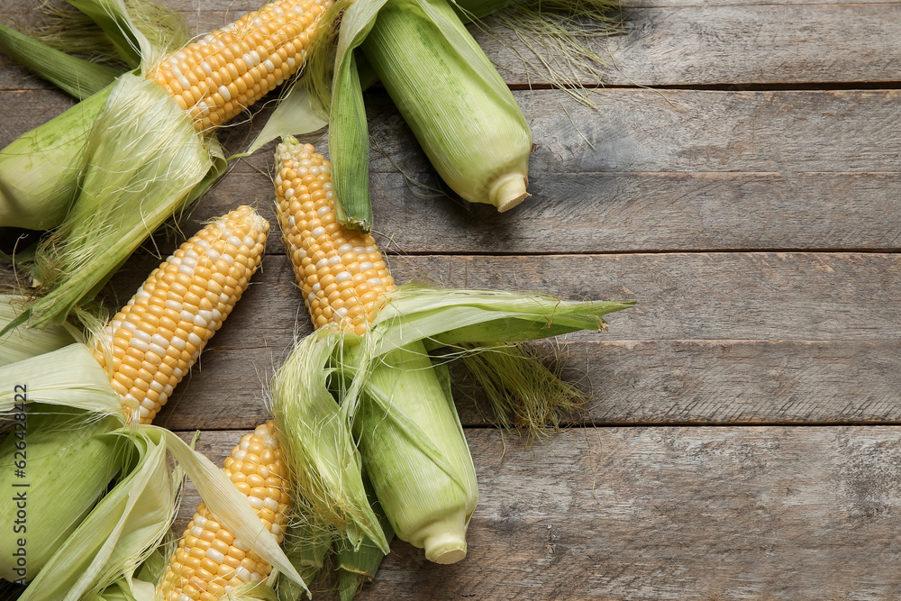
[[[171,4],[198,31],[246,8]],[[0,19],[29,5],[6,0]],[[367,97],[398,281],[639,304],[560,342],[592,397],[565,433],[529,447],[458,388],[480,497],[469,556],[437,566],[394,542],[359,598],[901,598],[901,4],[625,10],[632,31],[598,45],[595,109],[525,89],[514,53],[480,36],[538,146],[533,196],[508,214],[407,186],[401,170],[434,184],[431,169],[387,96]],[[0,145],[69,104],[0,57]],[[233,127],[232,147],[253,130]],[[271,150],[237,162],[183,229],[241,203],[271,219]],[[133,259],[114,296],[156,262]],[[222,460],[265,419],[296,324],[310,331],[301,302],[274,234],[157,423],[203,430]]]

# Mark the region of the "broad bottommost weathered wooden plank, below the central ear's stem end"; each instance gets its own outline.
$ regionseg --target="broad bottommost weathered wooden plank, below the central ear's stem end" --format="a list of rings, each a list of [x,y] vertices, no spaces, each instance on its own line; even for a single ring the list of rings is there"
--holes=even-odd
[[[524,448],[466,432],[469,556],[394,542],[360,599],[901,595],[901,429],[588,428]],[[205,433],[221,461],[241,433]],[[196,506],[187,493],[178,524]]]

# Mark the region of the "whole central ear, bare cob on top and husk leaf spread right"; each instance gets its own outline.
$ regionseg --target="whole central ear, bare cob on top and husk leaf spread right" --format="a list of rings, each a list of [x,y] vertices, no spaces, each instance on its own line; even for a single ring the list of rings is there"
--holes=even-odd
[[[317,518],[386,551],[361,466],[401,540],[429,560],[466,553],[475,470],[432,345],[521,341],[603,325],[631,303],[403,287],[375,242],[337,223],[331,167],[310,145],[277,150],[278,220],[314,326],[273,378],[272,405],[298,490]],[[336,402],[338,401],[338,402]]]

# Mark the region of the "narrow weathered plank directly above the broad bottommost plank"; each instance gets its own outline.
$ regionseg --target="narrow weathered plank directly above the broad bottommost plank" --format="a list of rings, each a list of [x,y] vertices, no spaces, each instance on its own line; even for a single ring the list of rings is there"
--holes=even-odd
[[[574,423],[901,423],[898,341],[578,341],[542,344],[589,397]],[[204,353],[155,423],[173,430],[252,428],[287,349]],[[451,372],[461,422],[491,423],[480,389]]]

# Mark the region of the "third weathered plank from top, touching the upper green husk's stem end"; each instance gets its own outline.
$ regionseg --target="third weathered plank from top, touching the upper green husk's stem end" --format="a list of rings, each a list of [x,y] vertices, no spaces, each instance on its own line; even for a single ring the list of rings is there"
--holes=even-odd
[[[498,214],[374,174],[375,228],[404,253],[901,248],[901,174],[549,173],[530,183],[531,198]],[[272,220],[269,187],[259,172],[232,172],[195,217],[250,203]]]

